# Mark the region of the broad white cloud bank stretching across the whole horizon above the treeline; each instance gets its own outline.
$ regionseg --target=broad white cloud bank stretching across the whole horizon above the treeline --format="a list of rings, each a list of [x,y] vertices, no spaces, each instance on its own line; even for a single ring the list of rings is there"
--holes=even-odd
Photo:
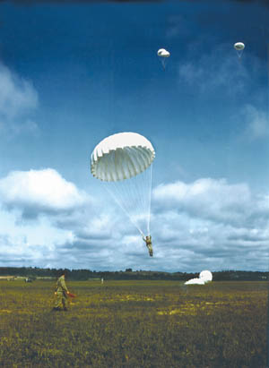
[[[113,202],[90,201],[52,169],[17,174],[0,181],[1,198],[43,216],[18,224],[15,211],[2,210],[2,264],[196,272],[267,268],[269,197],[252,193],[247,184],[202,178],[154,188],[149,257],[141,235]]]

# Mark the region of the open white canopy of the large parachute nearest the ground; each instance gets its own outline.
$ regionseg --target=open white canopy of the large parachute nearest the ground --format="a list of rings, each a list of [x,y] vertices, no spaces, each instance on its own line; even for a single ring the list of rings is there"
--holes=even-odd
[[[152,164],[152,143],[138,133],[110,135],[91,154],[91,174],[106,182],[129,179]]]

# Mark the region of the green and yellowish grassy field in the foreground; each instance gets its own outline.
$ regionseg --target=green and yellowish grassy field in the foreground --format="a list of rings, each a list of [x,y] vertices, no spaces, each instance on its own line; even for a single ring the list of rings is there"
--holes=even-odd
[[[0,282],[1,367],[265,367],[265,282]]]

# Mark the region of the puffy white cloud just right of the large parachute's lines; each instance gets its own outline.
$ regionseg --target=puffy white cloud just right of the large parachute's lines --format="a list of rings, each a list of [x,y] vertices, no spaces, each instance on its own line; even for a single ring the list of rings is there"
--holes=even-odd
[[[177,208],[196,218],[234,222],[244,218],[251,204],[247,184],[228,184],[225,179],[203,178],[194,183],[161,184],[153,191],[159,207]]]

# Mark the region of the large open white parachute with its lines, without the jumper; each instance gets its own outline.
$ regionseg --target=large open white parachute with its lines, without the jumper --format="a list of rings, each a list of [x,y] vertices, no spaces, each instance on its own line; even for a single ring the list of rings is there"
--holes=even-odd
[[[154,158],[152,143],[131,132],[110,135],[91,153],[91,174],[143,235],[150,235]]]

